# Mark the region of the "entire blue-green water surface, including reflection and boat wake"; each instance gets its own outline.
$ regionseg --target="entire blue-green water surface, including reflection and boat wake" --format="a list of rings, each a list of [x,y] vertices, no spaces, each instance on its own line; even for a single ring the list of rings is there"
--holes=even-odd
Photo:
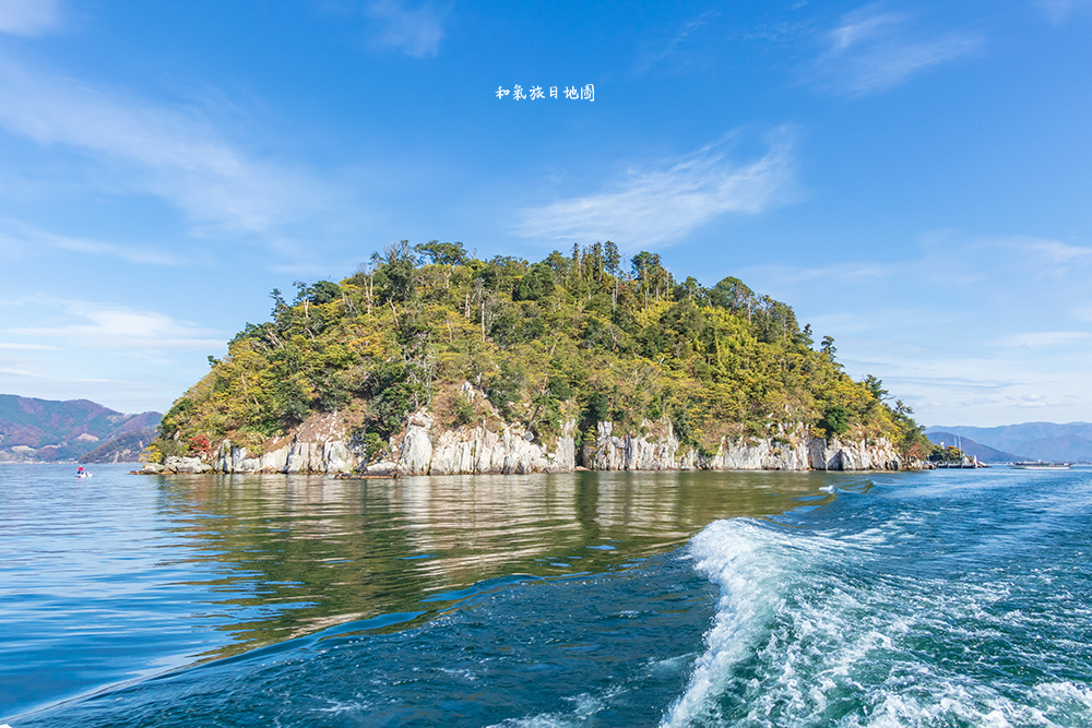
[[[1092,470],[0,467],[0,723],[1092,725]]]

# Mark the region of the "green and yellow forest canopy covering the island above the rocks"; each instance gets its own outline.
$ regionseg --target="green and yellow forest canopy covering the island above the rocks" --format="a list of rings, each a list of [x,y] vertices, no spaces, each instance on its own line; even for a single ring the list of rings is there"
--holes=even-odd
[[[612,242],[530,263],[478,260],[462,243],[401,241],[352,276],[272,293],[223,360],[164,416],[152,460],[206,453],[229,438],[251,451],[312,413],[337,413],[370,457],[422,407],[442,426],[501,418],[549,442],[613,421],[669,421],[708,453],[724,435],[887,438],[931,450],[911,410],[875,377],[853,381],[834,342],[816,346],[787,305],[728,277],[676,281],[657,254],[624,261]],[[490,407],[459,396],[463,382]],[[499,425],[500,422],[494,422]]]

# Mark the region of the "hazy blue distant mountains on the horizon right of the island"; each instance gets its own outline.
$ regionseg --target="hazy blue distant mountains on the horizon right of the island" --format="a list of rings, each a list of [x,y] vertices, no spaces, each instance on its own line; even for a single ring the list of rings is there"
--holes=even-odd
[[[943,435],[948,435],[947,443],[951,444],[952,435],[958,434],[963,439],[964,445],[970,441],[1004,454],[1017,455],[1008,460],[1092,462],[1092,422],[1023,422],[1001,427],[935,426],[926,429],[925,433],[933,442],[939,442],[945,439]],[[964,452],[971,453],[965,449]],[[978,460],[984,458],[980,455]]]

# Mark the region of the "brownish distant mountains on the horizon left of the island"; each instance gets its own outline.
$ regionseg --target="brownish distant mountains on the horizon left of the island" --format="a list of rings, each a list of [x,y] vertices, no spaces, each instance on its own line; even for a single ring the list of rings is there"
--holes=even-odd
[[[0,462],[75,461],[95,450],[107,460],[93,462],[127,462],[109,460],[121,458],[121,452],[135,461],[140,454],[140,450],[133,452],[135,443],[141,437],[151,441],[162,418],[156,411],[126,415],[88,399],[0,394]],[[142,435],[131,437],[134,433]],[[123,441],[115,444],[119,438]]]

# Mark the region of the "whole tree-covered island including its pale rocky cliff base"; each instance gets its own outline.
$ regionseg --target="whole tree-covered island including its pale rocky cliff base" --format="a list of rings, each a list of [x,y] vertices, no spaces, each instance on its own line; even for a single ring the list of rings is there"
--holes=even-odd
[[[529,263],[402,241],[272,298],[164,416],[149,469],[857,469],[931,450],[787,305],[612,242]]]

